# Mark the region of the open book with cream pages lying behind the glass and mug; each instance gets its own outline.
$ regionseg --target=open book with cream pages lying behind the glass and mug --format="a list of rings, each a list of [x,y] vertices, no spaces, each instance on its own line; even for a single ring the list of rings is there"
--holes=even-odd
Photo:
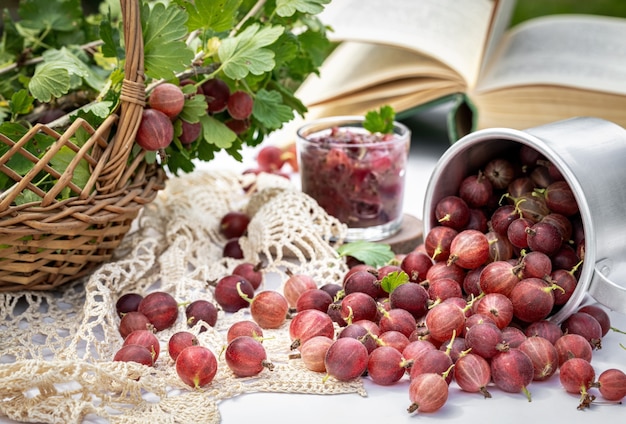
[[[513,0],[335,0],[341,42],[299,88],[306,119],[447,99],[450,137],[572,116],[626,127],[626,19],[552,15],[508,28]]]

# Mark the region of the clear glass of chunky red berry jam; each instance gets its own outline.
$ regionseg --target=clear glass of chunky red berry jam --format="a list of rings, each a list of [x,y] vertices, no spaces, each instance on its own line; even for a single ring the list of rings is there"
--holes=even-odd
[[[348,226],[346,241],[385,239],[400,229],[409,129],[370,133],[363,117],[322,118],[297,132],[302,191]]]

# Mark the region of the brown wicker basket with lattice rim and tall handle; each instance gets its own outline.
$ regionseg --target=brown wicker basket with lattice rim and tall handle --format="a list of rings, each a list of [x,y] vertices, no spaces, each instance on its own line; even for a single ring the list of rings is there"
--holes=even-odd
[[[148,166],[139,155],[130,161],[137,127],[145,106],[143,38],[138,0],[121,0],[126,63],[120,107],[98,128],[77,119],[63,133],[37,124],[18,142],[0,134],[9,146],[0,158],[0,172],[16,183],[0,197],[0,291],[48,290],[92,271],[110,259],[142,206],[151,202],[165,183],[159,166]],[[80,148],[71,142],[82,128],[90,134]],[[81,130],[82,131],[82,130]],[[39,159],[24,145],[36,134],[56,141]],[[63,173],[51,158],[64,146],[76,156]],[[15,155],[33,162],[21,177],[7,166]],[[90,178],[84,188],[72,183],[75,165],[86,160]],[[45,172],[55,185],[42,192],[35,177]],[[61,190],[70,198],[56,199]],[[15,205],[15,198],[31,190],[42,200]]]

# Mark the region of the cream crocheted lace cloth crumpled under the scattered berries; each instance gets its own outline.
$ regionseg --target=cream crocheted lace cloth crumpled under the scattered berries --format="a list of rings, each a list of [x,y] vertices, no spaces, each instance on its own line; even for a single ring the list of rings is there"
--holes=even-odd
[[[223,258],[219,220],[230,210],[252,216],[241,240],[244,261],[263,261],[265,286],[280,290],[288,272],[307,273],[319,286],[340,281],[345,261],[325,240],[346,228],[288,180],[261,174],[196,171],[169,180],[136,220],[115,257],[89,277],[49,292],[0,294],[0,415],[16,421],[72,423],[99,417],[111,423],[220,422],[219,403],[243,393],[281,392],[365,396],[362,382],[324,379],[290,358],[289,320],[264,330],[273,371],[237,378],[222,349],[247,310],[220,310],[215,327],[187,328],[181,305],[174,327],[157,333],[154,367],[114,362],[123,340],[116,300],[124,293],[163,290],[179,302],[213,299],[208,282],[241,262]],[[270,281],[274,287],[270,287]],[[259,289],[259,290],[260,290]],[[180,330],[196,334],[218,359],[214,380],[191,389],[176,374],[167,340]]]

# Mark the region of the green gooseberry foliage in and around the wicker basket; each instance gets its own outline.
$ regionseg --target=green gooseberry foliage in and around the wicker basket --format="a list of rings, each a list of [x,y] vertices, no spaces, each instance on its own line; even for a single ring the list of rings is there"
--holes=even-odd
[[[192,171],[196,161],[210,161],[219,151],[241,160],[244,145],[262,142],[296,114],[304,114],[294,92],[318,71],[332,48],[326,27],[315,16],[329,2],[142,0],[146,96],[162,82],[192,82],[184,86],[185,105],[174,122],[172,144],[160,153],[149,152],[145,160],[158,161],[174,174]],[[97,127],[119,107],[127,60],[119,2],[83,6],[80,0],[24,0],[17,20],[2,11],[0,132],[9,138],[19,140],[45,110],[67,113],[61,120],[66,124],[80,117]],[[247,131],[235,134],[225,112],[207,112],[207,99],[195,91],[211,78],[253,98]],[[201,123],[200,137],[192,144],[179,140],[182,121]],[[25,147],[41,157],[53,141],[38,135]],[[0,153],[6,150],[0,146]],[[132,156],[138,152],[133,149]],[[72,182],[83,187],[88,167],[82,160],[74,163],[75,157],[71,149],[61,149],[51,166],[58,172],[71,166]],[[19,156],[7,165],[20,175],[32,168],[31,161]],[[49,176],[37,177],[42,189],[55,183]],[[0,190],[13,183],[0,175]],[[64,190],[60,198],[72,195]],[[24,192],[17,201],[35,198]]]

